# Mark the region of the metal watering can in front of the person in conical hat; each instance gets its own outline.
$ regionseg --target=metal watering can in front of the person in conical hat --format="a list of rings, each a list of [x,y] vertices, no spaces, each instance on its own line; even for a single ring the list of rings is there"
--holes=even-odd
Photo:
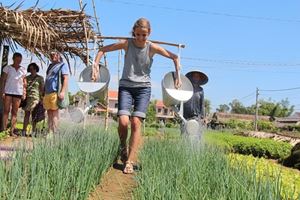
[[[175,72],[167,73],[161,83],[163,103],[167,107],[171,107],[176,115],[181,119],[181,133],[183,135],[195,136],[199,135],[201,125],[196,119],[185,119],[183,117],[183,103],[192,98],[194,88],[191,81],[184,75],[180,74],[182,85],[179,89],[174,86]]]

